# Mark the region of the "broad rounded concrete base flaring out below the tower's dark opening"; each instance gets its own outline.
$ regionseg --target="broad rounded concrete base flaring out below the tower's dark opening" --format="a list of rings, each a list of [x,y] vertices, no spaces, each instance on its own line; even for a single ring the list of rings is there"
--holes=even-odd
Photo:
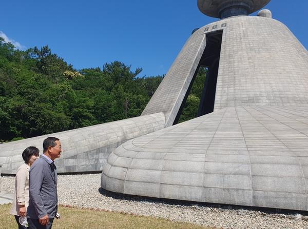
[[[102,188],[308,211],[308,107],[227,107],[110,154]]]

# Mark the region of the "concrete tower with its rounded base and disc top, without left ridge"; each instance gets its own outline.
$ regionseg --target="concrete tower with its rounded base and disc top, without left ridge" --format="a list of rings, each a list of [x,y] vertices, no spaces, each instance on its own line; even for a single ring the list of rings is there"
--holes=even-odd
[[[308,211],[308,52],[270,0],[198,0],[195,31],[142,115],[165,128],[110,154],[102,188],[148,197]],[[201,66],[198,117],[176,124]]]

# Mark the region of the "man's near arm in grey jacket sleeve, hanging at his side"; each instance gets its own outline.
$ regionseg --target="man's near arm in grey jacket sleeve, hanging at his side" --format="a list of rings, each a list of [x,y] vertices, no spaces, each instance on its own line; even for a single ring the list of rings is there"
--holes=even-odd
[[[43,218],[47,215],[40,191],[43,184],[43,179],[43,164],[33,163],[29,172],[29,195],[38,218]]]

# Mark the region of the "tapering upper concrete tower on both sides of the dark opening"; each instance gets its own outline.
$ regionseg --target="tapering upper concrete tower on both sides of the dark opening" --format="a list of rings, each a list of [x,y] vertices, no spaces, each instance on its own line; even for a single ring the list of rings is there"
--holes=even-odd
[[[228,106],[302,106],[308,103],[308,52],[272,18],[238,16],[197,30],[188,39],[143,115],[163,112],[166,127],[179,112],[206,46],[223,30],[215,109]]]

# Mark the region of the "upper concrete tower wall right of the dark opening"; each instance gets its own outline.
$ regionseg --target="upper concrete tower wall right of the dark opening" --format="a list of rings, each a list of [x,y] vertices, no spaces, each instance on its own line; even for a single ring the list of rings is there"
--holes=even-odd
[[[308,105],[308,52],[285,25],[246,16],[205,28],[222,24],[215,109]]]

